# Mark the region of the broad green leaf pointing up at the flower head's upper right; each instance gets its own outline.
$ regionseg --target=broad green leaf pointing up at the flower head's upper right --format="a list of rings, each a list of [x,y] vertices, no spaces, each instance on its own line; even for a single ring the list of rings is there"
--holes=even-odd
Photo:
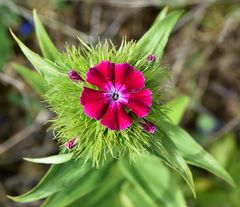
[[[138,41],[136,59],[155,54],[155,64],[159,64],[167,44],[169,35],[183,11],[173,11],[165,16],[166,10],[161,12],[148,32]]]

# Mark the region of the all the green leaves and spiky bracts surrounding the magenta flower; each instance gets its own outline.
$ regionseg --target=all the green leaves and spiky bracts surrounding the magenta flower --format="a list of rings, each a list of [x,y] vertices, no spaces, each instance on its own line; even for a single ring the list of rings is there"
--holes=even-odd
[[[80,46],[66,46],[66,51],[60,53],[34,12],[37,37],[44,57],[28,49],[12,33],[41,76],[17,64],[14,68],[56,113],[51,120],[51,128],[62,148],[60,155],[27,158],[32,162],[55,165],[33,190],[11,197],[13,200],[30,202],[50,196],[43,206],[185,207],[183,195],[171,177],[172,172],[163,163],[184,178],[193,194],[194,183],[187,163],[206,169],[234,185],[217,161],[177,126],[188,104],[188,97],[163,104],[161,88],[167,75],[160,67],[160,61],[170,32],[181,14],[182,11],[167,14],[167,10],[163,10],[138,42],[123,39],[122,44],[116,47],[109,40],[96,46],[80,40]],[[147,61],[150,54],[156,56],[156,61]],[[73,68],[84,79],[88,69],[102,60],[127,62],[143,72],[146,88],[153,92],[147,119],[156,125],[156,133],[143,131],[137,122],[126,130],[111,131],[86,116],[79,98],[83,85],[87,83],[74,82],[67,74]],[[70,150],[71,154],[65,156],[67,150],[64,145],[72,138],[76,138],[76,146]],[[134,160],[132,165],[128,158]],[[64,195],[68,196],[64,198]]]

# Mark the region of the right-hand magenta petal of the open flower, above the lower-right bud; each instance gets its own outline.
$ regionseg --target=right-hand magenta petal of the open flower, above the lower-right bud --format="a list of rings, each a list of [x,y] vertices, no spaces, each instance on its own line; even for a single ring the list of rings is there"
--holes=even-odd
[[[152,105],[152,92],[149,89],[129,94],[127,108],[131,109],[139,118],[148,115]]]

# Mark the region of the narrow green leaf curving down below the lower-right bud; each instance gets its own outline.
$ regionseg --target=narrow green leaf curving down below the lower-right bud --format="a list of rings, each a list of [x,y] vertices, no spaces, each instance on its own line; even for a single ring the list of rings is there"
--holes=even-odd
[[[165,131],[158,129],[157,132],[153,134],[151,150],[154,155],[162,158],[168,166],[184,178],[195,196],[192,173],[174,142]]]

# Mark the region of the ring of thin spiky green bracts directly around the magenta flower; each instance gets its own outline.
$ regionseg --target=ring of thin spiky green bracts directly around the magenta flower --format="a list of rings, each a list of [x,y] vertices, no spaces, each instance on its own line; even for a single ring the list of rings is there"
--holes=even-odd
[[[102,60],[129,63],[143,72],[146,88],[153,92],[154,101],[151,107],[153,113],[155,108],[159,110],[162,98],[159,85],[166,75],[159,66],[148,62],[147,57],[137,61],[133,59],[135,47],[135,42],[127,42],[125,39],[119,48],[110,41],[100,42],[96,47],[67,46],[64,61],[58,64],[69,70],[74,68],[85,79],[89,68]],[[83,81],[74,82],[66,76],[55,76],[49,81],[50,90],[46,94],[46,99],[50,108],[57,114],[52,120],[52,129],[62,147],[73,137],[76,138],[77,145],[71,150],[74,157],[91,160],[96,167],[103,164],[108,154],[119,159],[128,155],[132,160],[135,156],[148,152],[151,148],[149,142],[152,140],[151,135],[142,130],[137,120],[127,130],[111,131],[99,121],[86,116],[79,103],[84,85],[93,87]]]

